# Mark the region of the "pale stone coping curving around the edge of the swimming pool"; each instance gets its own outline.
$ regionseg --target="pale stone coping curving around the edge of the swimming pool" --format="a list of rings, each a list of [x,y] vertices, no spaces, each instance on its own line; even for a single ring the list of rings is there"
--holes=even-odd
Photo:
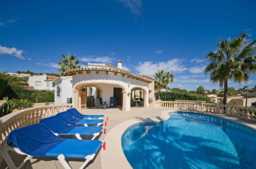
[[[215,114],[210,112],[201,112],[201,111],[191,111],[191,110],[181,110],[181,109],[172,109],[172,110],[166,110],[161,112],[161,116],[157,116],[154,118],[147,119],[148,121],[142,121],[140,119],[132,119],[124,121],[120,124],[117,124],[112,128],[108,134],[106,135],[104,141],[107,143],[106,150],[102,151],[101,153],[101,165],[103,169],[109,169],[109,168],[120,168],[122,166],[122,169],[125,168],[132,168],[130,163],[125,157],[125,154],[123,152],[122,148],[122,135],[124,132],[132,125],[137,123],[147,123],[147,122],[161,122],[166,121],[170,118],[169,113],[170,112],[192,112],[192,113],[200,113],[205,115],[210,115],[222,119],[226,119],[235,123],[239,123],[242,125],[245,125],[249,128],[252,128],[256,130],[256,121],[248,121],[246,119],[239,119],[234,116],[228,116],[225,114]]]

